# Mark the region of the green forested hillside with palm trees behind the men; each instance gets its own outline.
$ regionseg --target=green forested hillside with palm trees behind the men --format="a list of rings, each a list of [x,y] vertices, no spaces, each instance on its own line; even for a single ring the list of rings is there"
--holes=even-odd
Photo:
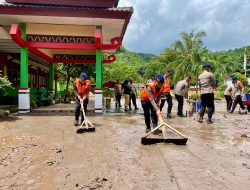
[[[115,63],[104,66],[104,81],[133,78],[136,82],[145,82],[151,74],[171,69],[174,72],[174,83],[186,75],[191,75],[192,82],[195,83],[205,63],[212,66],[217,81],[221,83],[237,73],[244,75],[245,47],[212,52],[203,43],[205,32],[183,32],[180,36],[180,40],[173,42],[172,46],[163,50],[160,55],[131,52],[122,47],[116,54]],[[246,48],[247,52],[250,52],[250,46]],[[249,62],[247,76],[250,77]]]

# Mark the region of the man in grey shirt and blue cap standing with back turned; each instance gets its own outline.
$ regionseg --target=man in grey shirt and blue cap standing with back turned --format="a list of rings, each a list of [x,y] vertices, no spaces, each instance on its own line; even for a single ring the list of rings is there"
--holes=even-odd
[[[215,78],[212,72],[210,72],[211,66],[209,64],[203,65],[203,73],[198,77],[198,82],[201,91],[201,109],[200,118],[198,122],[203,123],[203,116],[205,114],[205,109],[208,109],[208,120],[207,123],[211,124],[212,115],[214,112],[214,90]]]

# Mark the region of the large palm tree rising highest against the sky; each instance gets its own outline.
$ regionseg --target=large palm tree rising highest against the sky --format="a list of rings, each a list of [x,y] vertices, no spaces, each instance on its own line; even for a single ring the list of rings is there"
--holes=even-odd
[[[205,36],[206,33],[203,31],[195,33],[192,30],[189,34],[181,32],[181,40],[175,41],[171,48],[166,49],[158,57],[158,60],[174,69],[174,83],[183,79],[185,75],[191,75],[196,78],[196,81],[198,80],[201,65],[204,63],[203,57],[208,53],[202,40]]]

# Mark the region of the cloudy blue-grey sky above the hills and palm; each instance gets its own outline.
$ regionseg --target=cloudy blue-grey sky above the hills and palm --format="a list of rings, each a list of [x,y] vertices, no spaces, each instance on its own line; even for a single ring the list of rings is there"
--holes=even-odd
[[[250,45],[250,0],[120,0],[134,14],[123,45],[159,54],[180,39],[180,32],[205,31],[212,51]]]

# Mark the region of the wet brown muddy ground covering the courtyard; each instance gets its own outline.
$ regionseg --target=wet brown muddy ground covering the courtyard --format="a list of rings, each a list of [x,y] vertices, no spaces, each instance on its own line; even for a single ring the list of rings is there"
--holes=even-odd
[[[211,125],[167,120],[186,146],[141,145],[141,111],[91,115],[88,134],[72,116],[2,118],[0,189],[250,189],[250,113],[225,114],[224,104]]]

